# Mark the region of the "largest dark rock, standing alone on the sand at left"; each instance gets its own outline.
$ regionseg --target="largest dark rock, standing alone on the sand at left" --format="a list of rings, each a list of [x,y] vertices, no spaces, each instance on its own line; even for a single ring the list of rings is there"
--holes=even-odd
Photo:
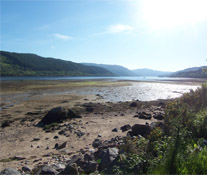
[[[63,120],[72,118],[81,118],[81,116],[75,114],[70,109],[64,107],[57,107],[51,109],[38,123],[38,126],[45,126],[51,123],[61,123]]]

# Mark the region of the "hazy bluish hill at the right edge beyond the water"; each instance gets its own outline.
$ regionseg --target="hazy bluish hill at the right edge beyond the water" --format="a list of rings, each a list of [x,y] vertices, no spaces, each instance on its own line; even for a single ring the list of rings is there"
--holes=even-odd
[[[169,74],[169,77],[184,77],[184,78],[207,78],[207,72],[204,71],[207,66],[192,67],[181,71]]]

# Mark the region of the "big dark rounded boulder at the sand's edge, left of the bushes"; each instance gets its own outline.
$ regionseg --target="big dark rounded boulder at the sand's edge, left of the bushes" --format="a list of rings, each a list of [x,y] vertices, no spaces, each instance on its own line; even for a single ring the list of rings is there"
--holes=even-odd
[[[135,124],[132,126],[132,132],[131,134],[133,136],[145,136],[150,132],[150,127],[147,125],[140,125],[140,124]]]

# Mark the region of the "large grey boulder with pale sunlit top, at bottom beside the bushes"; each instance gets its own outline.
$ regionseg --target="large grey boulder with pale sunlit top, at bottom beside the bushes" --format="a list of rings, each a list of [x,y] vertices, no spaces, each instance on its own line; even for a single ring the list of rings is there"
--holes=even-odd
[[[103,170],[109,167],[113,163],[113,161],[117,158],[118,155],[119,155],[118,148],[116,147],[108,148],[105,152],[103,152],[99,169]]]

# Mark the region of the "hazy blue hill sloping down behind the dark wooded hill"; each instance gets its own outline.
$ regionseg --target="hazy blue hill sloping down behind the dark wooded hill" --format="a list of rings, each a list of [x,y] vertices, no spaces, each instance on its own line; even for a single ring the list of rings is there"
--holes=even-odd
[[[97,67],[102,67],[116,76],[138,76],[136,73],[133,71],[119,65],[108,65],[108,64],[95,64],[95,63],[82,63],[83,65],[87,66],[97,66]]]

